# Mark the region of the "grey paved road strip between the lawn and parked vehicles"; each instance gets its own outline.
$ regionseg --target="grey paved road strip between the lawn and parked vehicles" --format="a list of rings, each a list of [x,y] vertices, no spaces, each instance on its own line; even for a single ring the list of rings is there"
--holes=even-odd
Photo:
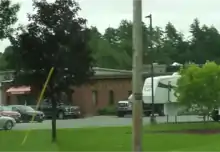
[[[198,116],[178,116],[178,122],[202,121]],[[157,117],[158,123],[167,122],[167,117]],[[175,122],[174,117],[169,117],[169,122]],[[143,124],[150,123],[149,117],[143,118]],[[83,119],[57,120],[57,128],[83,128],[83,127],[106,127],[106,126],[130,126],[131,117],[117,118],[115,116],[96,116]],[[50,129],[51,120],[45,120],[43,123],[21,123],[17,124],[14,130],[26,129]]]

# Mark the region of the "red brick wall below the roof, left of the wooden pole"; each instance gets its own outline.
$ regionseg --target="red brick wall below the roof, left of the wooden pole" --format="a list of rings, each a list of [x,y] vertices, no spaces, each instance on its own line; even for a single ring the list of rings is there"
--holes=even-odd
[[[97,91],[97,103],[92,100],[92,91]],[[114,102],[128,98],[131,91],[131,79],[93,80],[92,85],[75,88],[73,104],[80,106],[85,115],[94,115],[98,109],[109,105],[109,91],[114,92]]]

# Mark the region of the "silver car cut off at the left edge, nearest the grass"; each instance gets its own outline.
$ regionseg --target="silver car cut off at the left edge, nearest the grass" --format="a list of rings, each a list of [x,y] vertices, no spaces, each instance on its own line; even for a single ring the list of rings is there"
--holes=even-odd
[[[0,129],[11,130],[16,124],[14,118],[0,115]]]

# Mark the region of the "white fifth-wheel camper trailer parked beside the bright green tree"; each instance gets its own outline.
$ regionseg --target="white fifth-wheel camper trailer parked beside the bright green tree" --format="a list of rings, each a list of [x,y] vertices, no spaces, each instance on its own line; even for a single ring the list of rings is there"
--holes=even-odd
[[[154,77],[154,104],[155,108],[162,106],[164,115],[176,115],[183,107],[177,104],[176,96],[174,95],[174,88],[177,85],[177,80],[180,78],[178,73],[166,76]],[[145,105],[152,105],[152,83],[151,77],[146,78],[142,90],[143,103]],[[132,95],[128,98],[132,101]],[[161,108],[160,108],[161,109]],[[158,111],[158,110],[156,110]]]

